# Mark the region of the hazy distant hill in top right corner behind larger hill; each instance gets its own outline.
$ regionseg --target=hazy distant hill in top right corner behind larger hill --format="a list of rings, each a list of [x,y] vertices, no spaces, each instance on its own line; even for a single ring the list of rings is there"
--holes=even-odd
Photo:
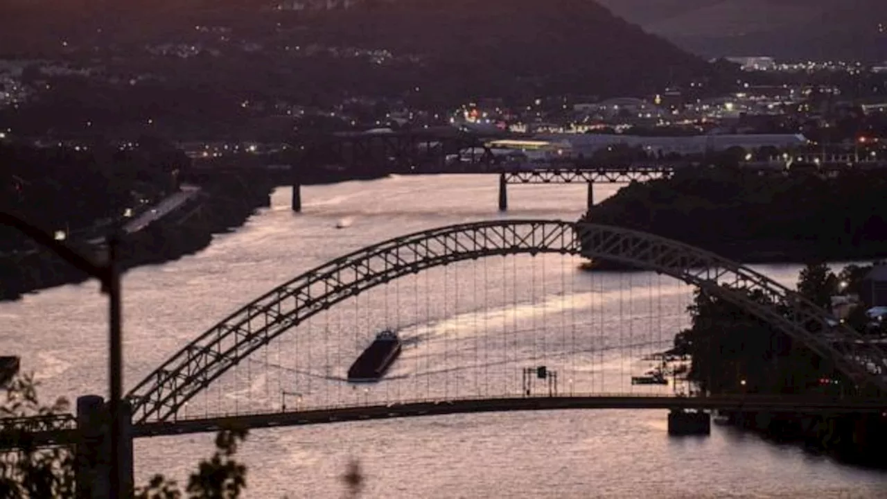
[[[649,32],[708,57],[887,59],[884,0],[599,2]]]

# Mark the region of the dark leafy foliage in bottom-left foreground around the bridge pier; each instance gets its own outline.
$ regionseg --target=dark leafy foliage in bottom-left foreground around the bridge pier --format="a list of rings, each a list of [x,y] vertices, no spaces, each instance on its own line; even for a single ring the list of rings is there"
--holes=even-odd
[[[32,376],[12,380],[6,400],[0,405],[0,417],[49,416],[66,412],[65,399],[51,406],[37,400]],[[237,499],[247,487],[247,468],[234,459],[238,445],[247,437],[246,430],[227,429],[216,436],[216,453],[200,462],[192,472],[184,495],[175,481],[156,475],[147,486],[134,491],[136,499]],[[27,433],[0,432],[0,441],[20,444],[18,452],[0,458],[0,497],[8,499],[68,499],[75,497],[74,454],[67,448],[36,448],[27,441]]]

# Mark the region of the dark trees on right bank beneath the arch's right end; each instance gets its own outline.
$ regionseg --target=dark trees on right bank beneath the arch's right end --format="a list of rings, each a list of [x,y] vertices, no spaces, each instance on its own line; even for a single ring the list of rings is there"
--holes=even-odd
[[[797,289],[817,305],[830,307],[830,297],[858,291],[870,265],[845,267],[832,273],[827,265],[808,265]],[[751,300],[774,304],[763,294],[746,292]],[[829,302],[828,305],[825,302]],[[869,334],[860,305],[848,323]],[[764,395],[845,396],[857,395],[857,385],[840,373],[832,360],[821,357],[773,324],[762,321],[740,306],[712,294],[697,291],[690,329],[675,338],[671,353],[689,355],[692,367],[687,379],[711,395],[754,393]],[[860,328],[861,324],[861,328]],[[812,330],[814,335],[826,330]],[[726,413],[731,423],[762,432],[775,440],[799,441],[806,447],[837,455],[844,460],[884,466],[887,459],[887,419],[881,414],[822,415],[793,412]]]

